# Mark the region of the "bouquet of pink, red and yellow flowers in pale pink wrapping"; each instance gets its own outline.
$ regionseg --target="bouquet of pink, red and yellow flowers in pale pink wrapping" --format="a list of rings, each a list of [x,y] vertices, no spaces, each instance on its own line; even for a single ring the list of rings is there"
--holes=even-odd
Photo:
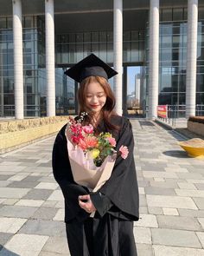
[[[114,149],[116,140],[110,133],[94,135],[91,124],[83,126],[80,119],[69,118],[66,128],[67,150],[72,167],[73,179],[82,186],[97,191],[103,186],[111,174],[117,154],[122,158],[128,155],[128,148],[121,146],[119,152]]]

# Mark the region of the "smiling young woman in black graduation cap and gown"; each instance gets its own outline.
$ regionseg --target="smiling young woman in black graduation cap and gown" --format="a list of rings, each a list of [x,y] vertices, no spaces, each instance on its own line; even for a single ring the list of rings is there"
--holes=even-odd
[[[96,193],[73,181],[67,153],[66,126],[54,142],[53,171],[65,198],[67,241],[72,256],[136,256],[133,221],[139,219],[137,175],[131,122],[114,112],[115,98],[108,78],[117,72],[91,55],[68,69],[67,75],[80,82],[80,114],[88,113],[95,133],[110,132],[116,150],[129,149],[126,159],[118,156],[111,178]],[[94,217],[90,217],[95,212]]]

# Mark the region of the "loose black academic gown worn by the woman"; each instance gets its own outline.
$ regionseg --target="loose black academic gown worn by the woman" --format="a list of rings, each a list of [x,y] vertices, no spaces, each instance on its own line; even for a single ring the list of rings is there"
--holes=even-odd
[[[81,209],[78,196],[90,194],[87,187],[73,181],[68,160],[65,128],[56,136],[53,149],[54,178],[59,183],[65,198],[65,222],[67,239],[72,256],[136,256],[132,233],[133,220],[139,219],[139,196],[137,175],[133,157],[134,139],[131,122],[121,116],[113,116],[112,123],[120,130],[114,137],[116,150],[124,145],[129,149],[124,160],[118,156],[111,178],[98,192],[91,194],[97,211],[94,218]],[[110,132],[103,121],[99,131]]]

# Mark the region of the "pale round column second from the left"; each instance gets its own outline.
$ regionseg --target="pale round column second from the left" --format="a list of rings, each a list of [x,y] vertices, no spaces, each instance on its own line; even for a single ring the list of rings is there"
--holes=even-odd
[[[45,0],[47,116],[55,115],[54,0]]]

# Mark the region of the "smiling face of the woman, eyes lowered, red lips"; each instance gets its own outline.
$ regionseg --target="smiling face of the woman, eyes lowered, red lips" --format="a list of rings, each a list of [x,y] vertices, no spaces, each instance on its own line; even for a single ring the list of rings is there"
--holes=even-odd
[[[105,90],[99,82],[89,83],[86,90],[86,107],[97,114],[104,107],[105,102]]]

